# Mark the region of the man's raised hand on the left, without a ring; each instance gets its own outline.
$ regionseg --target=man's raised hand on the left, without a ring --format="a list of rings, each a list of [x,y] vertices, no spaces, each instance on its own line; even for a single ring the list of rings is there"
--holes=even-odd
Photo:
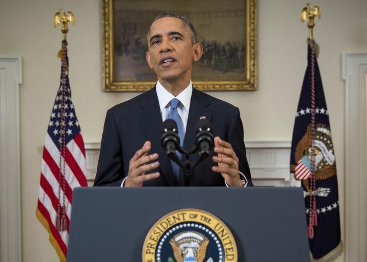
[[[149,141],[145,142],[144,146],[135,153],[132,159],[130,159],[129,173],[125,180],[124,187],[139,187],[142,186],[145,181],[155,179],[159,176],[159,172],[145,174],[145,172],[159,167],[158,161],[147,164],[159,157],[157,153],[148,155],[151,148],[151,143]]]

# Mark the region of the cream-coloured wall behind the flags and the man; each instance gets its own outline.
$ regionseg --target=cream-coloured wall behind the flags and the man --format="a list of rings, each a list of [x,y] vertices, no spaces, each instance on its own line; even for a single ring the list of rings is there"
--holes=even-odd
[[[290,141],[306,66],[308,30],[299,21],[303,0],[259,0],[259,90],[212,95],[240,108],[246,141]],[[322,10],[315,38],[330,112],[337,157],[341,221],[344,230],[344,83],[341,52],[367,50],[364,0],[313,1]],[[105,111],[137,93],[102,91],[100,0],[1,0],[0,55],[23,57],[20,89],[23,261],[57,261],[46,231],[35,217],[41,148],[59,84],[61,34],[52,16],[72,11],[76,26],[68,34],[73,102],[85,142],[99,142]],[[338,261],[344,261],[343,258]]]

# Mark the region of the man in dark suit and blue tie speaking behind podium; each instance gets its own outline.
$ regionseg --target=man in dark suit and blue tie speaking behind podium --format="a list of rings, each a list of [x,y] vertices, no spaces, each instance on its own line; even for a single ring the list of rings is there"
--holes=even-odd
[[[177,113],[184,148],[194,146],[200,118],[212,122],[216,136],[215,154],[196,167],[192,185],[253,185],[238,108],[192,86],[193,61],[203,54],[194,26],[177,14],[163,13],[154,19],[147,41],[146,60],[157,74],[157,84],[107,111],[94,185],[184,185],[184,173],[175,171],[161,146],[162,121]],[[190,156],[192,162],[197,158]]]

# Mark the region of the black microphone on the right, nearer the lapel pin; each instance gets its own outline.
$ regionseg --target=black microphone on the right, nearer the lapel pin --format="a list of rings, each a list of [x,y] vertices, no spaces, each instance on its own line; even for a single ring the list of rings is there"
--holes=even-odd
[[[196,122],[195,129],[195,144],[199,149],[199,161],[202,161],[209,156],[209,151],[214,145],[212,124],[207,119],[199,119]]]

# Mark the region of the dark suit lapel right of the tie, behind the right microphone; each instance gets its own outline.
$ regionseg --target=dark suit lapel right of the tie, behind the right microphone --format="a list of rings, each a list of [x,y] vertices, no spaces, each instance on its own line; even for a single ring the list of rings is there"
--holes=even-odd
[[[195,146],[195,136],[196,130],[195,125],[196,122],[200,119],[200,117],[205,117],[209,121],[212,120],[212,112],[210,112],[206,107],[209,105],[208,100],[205,96],[202,95],[201,92],[193,88],[193,93],[191,95],[190,101],[190,110],[189,110],[189,118],[186,126],[185,140],[184,140],[184,148],[186,150],[191,150]],[[196,159],[190,158],[191,161],[195,161]],[[182,155],[182,161],[186,160],[186,156]],[[185,184],[184,173],[180,173],[179,185]]]

